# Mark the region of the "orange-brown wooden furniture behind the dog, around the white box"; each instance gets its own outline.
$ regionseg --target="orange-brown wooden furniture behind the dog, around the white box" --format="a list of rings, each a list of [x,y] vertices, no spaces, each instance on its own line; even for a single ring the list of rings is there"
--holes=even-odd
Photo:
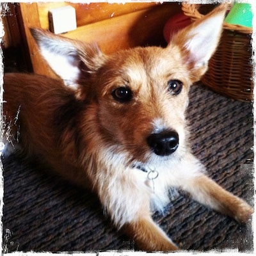
[[[84,42],[97,42],[103,52],[111,53],[138,45],[163,45],[166,21],[180,12],[178,3],[19,3],[17,19],[26,58],[37,74],[54,76],[42,60],[29,28],[49,29],[48,11],[71,5],[76,9],[77,29],[63,34]]]

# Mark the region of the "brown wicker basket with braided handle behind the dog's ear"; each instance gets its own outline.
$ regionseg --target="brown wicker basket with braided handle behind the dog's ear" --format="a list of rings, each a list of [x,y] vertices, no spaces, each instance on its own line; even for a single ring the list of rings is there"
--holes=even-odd
[[[201,19],[213,4],[182,3],[182,11],[192,20]],[[204,14],[202,14],[204,13]],[[220,45],[209,61],[202,82],[232,99],[253,100],[252,28],[223,24]]]

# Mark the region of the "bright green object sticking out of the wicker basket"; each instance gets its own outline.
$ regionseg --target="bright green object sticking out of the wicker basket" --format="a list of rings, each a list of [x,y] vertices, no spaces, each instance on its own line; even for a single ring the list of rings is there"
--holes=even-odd
[[[225,22],[252,28],[251,4],[235,3],[228,13]]]

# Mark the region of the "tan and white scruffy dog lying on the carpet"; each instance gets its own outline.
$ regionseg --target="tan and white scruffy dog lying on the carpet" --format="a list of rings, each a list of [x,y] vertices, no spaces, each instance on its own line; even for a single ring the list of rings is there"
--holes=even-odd
[[[179,248],[152,220],[168,189],[247,221],[253,208],[209,179],[188,143],[185,111],[220,40],[226,5],[172,36],[167,47],[106,55],[42,29],[31,29],[60,79],[4,76],[6,150],[20,145],[79,186],[92,189],[116,228],[141,250]]]

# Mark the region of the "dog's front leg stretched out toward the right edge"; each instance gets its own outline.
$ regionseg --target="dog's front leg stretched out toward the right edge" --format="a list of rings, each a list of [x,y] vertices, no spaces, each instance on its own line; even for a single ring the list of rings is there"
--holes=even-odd
[[[201,204],[227,214],[237,221],[245,222],[253,214],[253,208],[244,200],[221,188],[206,175],[202,174],[192,179],[190,177],[183,182],[181,188],[188,191]]]

